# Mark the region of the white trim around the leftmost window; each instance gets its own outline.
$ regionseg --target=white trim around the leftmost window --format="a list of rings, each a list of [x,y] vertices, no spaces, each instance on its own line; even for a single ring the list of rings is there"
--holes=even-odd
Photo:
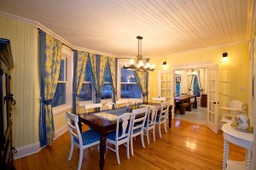
[[[73,82],[73,51],[66,46],[62,46],[61,56],[67,59],[67,92],[66,92],[66,104],[58,105],[52,108],[53,115],[59,114],[62,111],[67,111],[72,108],[72,82]]]

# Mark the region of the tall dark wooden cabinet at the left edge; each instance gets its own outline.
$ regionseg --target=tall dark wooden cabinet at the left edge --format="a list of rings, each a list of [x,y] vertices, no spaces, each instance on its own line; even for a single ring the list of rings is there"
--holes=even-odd
[[[13,170],[14,151],[12,145],[11,106],[15,105],[10,93],[11,77],[9,70],[14,67],[9,40],[0,38],[0,169]]]

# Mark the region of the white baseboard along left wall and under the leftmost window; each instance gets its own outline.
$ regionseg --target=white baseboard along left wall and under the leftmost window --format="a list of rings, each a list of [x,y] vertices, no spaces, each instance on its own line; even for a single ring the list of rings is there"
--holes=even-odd
[[[59,128],[55,131],[55,139],[59,138],[61,134],[65,133],[67,131],[67,124],[65,126]],[[17,153],[14,154],[14,159],[19,159],[20,157],[29,156],[34,153],[37,153],[38,151],[42,150],[44,147],[40,147],[39,141],[34,144],[28,144],[26,146],[22,146],[20,148],[16,148]]]

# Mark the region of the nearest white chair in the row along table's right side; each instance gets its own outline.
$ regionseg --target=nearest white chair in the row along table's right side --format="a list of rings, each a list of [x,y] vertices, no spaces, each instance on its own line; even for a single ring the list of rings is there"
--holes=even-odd
[[[120,164],[119,160],[119,145],[125,144],[126,146],[126,155],[127,158],[130,158],[129,155],[129,140],[130,140],[130,131],[131,131],[131,113],[125,113],[121,115],[117,119],[116,131],[107,134],[107,148],[112,150],[116,154],[116,158],[118,164]],[[122,122],[121,128],[119,127],[119,122]],[[108,144],[113,144],[115,149],[108,146]]]

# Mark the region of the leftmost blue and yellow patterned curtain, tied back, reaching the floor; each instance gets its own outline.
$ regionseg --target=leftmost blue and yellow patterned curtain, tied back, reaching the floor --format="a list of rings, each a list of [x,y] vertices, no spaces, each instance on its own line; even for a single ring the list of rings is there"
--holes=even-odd
[[[44,31],[40,32],[41,54],[41,113],[39,122],[40,146],[51,145],[55,127],[52,115],[52,99],[57,87],[61,66],[62,43],[49,36]]]

